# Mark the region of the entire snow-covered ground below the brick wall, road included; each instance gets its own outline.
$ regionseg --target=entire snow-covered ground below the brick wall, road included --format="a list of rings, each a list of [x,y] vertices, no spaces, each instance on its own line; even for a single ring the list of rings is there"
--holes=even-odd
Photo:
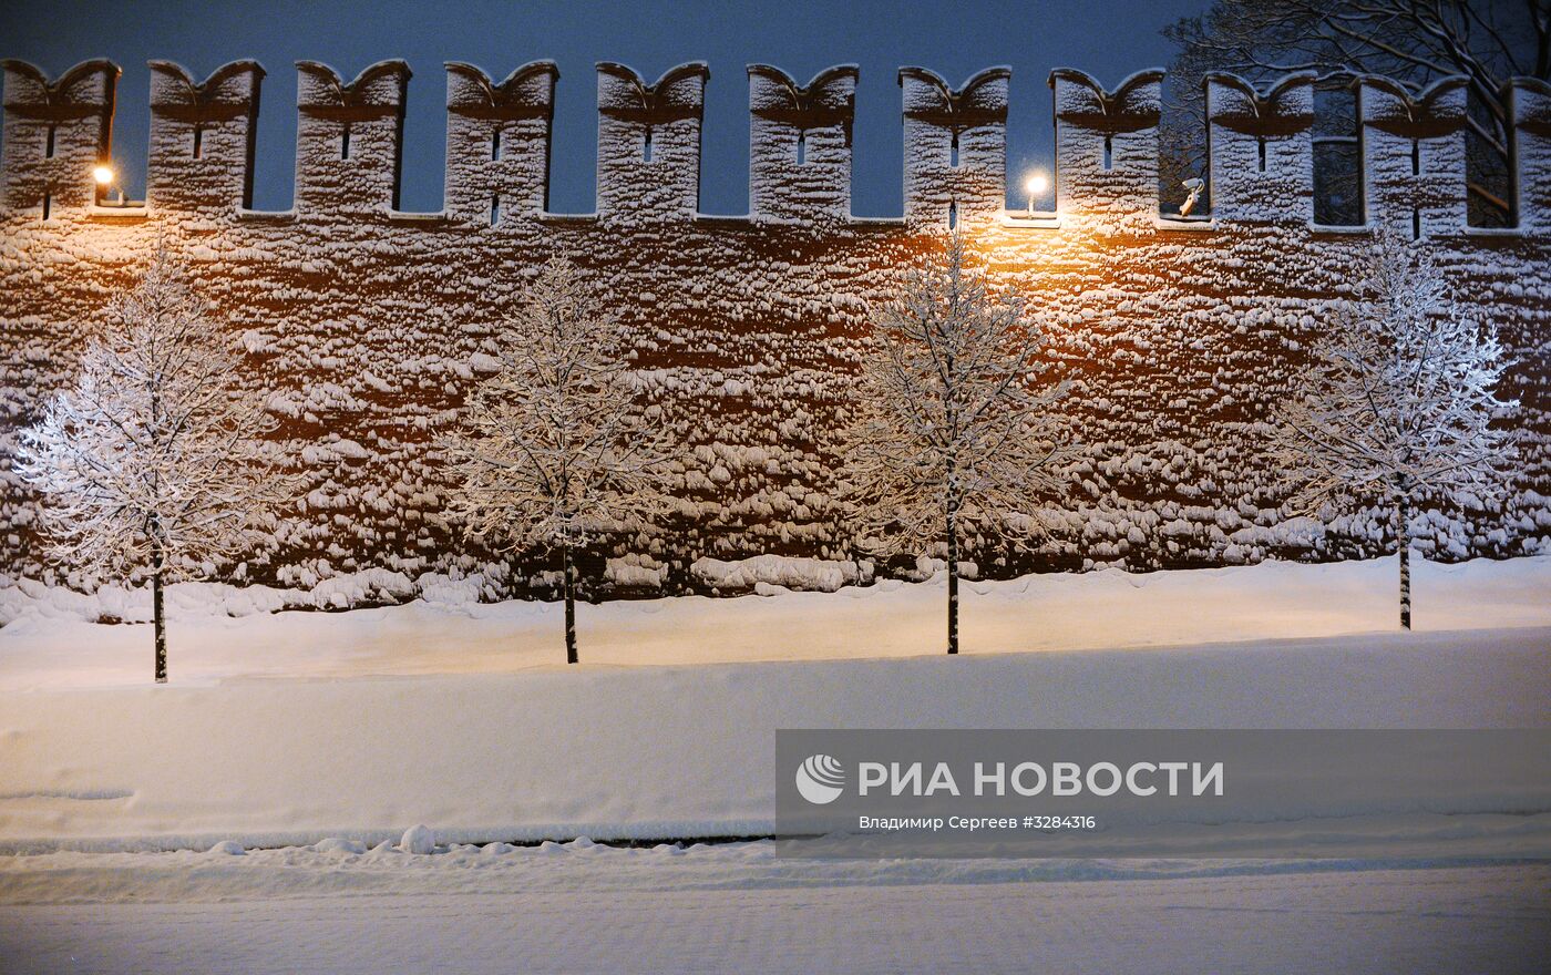
[[[976,583],[965,659],[940,580],[583,606],[574,668],[554,606],[180,589],[168,687],[149,628],[0,592],[0,972],[1542,970],[1545,863],[499,843],[765,834],[788,727],[1551,725],[1551,560],[1424,564],[1413,634],[1393,580]]]

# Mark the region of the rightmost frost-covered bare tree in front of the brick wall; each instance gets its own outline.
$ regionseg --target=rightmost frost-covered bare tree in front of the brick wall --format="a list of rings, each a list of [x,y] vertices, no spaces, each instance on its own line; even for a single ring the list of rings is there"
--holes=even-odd
[[[1411,505],[1503,493],[1514,448],[1492,428],[1508,366],[1491,322],[1463,316],[1425,253],[1380,234],[1359,301],[1321,322],[1312,364],[1273,414],[1272,459],[1304,512],[1377,496],[1393,505],[1401,626],[1411,628]]]

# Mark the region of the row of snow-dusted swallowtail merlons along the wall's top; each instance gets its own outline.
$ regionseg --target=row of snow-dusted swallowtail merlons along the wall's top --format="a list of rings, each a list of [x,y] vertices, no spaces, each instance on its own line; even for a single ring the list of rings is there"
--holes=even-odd
[[[203,82],[171,62],[154,60],[150,68],[146,215],[251,219],[245,211],[264,68],[239,60]],[[409,67],[383,60],[349,82],[318,62],[296,68],[295,217],[394,219]],[[534,62],[499,84],[473,65],[445,68],[447,183],[439,217],[496,226],[543,220],[558,68]],[[5,78],[0,206],[42,219],[47,205],[50,220],[85,215],[96,202],[90,169],[110,155],[118,68],[90,60],[50,81],[28,64],[6,60]],[[1008,68],[986,68],[955,88],[926,68],[900,70],[909,226],[1003,217],[1008,79]],[[655,82],[620,64],[597,65],[599,220],[689,222],[700,214],[709,81],[703,62],[670,68]],[[1149,68],[1106,88],[1073,68],[1052,71],[1062,220],[1107,233],[1157,229],[1162,81],[1163,70]],[[1311,222],[1312,81],[1297,73],[1256,87],[1225,73],[1207,78],[1216,220]],[[856,82],[855,65],[820,71],[808,85],[772,65],[749,65],[751,222],[850,220]],[[1360,79],[1371,223],[1415,236],[1464,226],[1464,85],[1463,78],[1446,78],[1418,93],[1383,78]],[[1532,231],[1546,220],[1551,198],[1548,95],[1543,82],[1529,79],[1517,79],[1512,91],[1518,223]]]

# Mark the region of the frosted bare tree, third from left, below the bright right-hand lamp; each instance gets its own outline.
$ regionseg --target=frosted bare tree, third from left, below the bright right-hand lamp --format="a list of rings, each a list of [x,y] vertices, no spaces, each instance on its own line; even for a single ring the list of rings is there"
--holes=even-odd
[[[841,490],[862,547],[948,549],[948,653],[959,653],[959,553],[969,535],[1019,541],[1042,525],[1075,448],[1050,406],[1041,322],[988,290],[955,233],[910,268],[873,319],[845,429]]]

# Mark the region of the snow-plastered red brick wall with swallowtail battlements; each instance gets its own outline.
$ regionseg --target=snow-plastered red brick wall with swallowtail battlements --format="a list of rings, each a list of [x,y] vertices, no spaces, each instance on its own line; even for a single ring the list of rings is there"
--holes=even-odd
[[[1272,555],[1371,555],[1388,521],[1360,512],[1292,518],[1266,460],[1263,423],[1289,395],[1373,226],[1312,222],[1312,84],[1207,79],[1210,219],[1159,212],[1163,71],[1114,87],[1052,73],[1056,212],[1008,209],[1008,70],[957,87],[898,74],[904,219],[850,212],[858,68],[805,84],[751,65],[749,209],[698,200],[704,64],[656,79],[597,67],[596,212],[548,206],[555,64],[496,81],[453,62],[442,209],[399,211],[409,68],[354,79],[301,62],[295,208],[251,209],[264,70],[234,62],[200,81],[152,64],[144,205],[98,205],[118,68],[50,79],[5,67],[0,174],[0,586],[42,575],[36,499],[11,459],[22,428],[65,388],[92,326],[158,243],[188,260],[244,357],[278,440],[306,482],[275,541],[233,578],[312,586],[341,572],[478,567],[490,553],[442,521],[437,446],[499,350],[496,324],[538,265],[568,254],[625,322],[641,395],[682,445],[682,516],[589,553],[616,587],[700,586],[704,560],[850,563],[836,499],[838,431],[855,369],[901,268],[951,223],[969,231],[994,288],[1045,327],[1070,380],[1059,409],[1083,457],[1072,496],[1033,552],[979,549],[988,577],[1030,569],[1200,566]],[[1360,82],[1371,225],[1416,237],[1461,302],[1517,358],[1503,398],[1522,470],[1501,504],[1447,499],[1410,525],[1442,558],[1551,544],[1551,88],[1511,90],[1517,226],[1464,223],[1463,90]],[[105,195],[105,194],[104,194]],[[931,553],[929,553],[931,555]],[[937,553],[934,556],[941,556]],[[605,560],[605,561],[597,561]],[[611,572],[606,566],[622,566]],[[896,567],[898,569],[898,567]],[[226,569],[223,569],[226,570]],[[543,586],[548,566],[513,578]]]

